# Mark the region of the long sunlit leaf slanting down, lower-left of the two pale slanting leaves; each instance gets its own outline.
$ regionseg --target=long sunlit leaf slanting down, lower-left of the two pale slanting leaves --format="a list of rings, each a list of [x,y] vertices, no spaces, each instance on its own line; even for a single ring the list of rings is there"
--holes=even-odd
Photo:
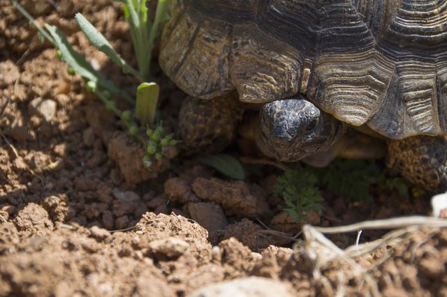
[[[66,61],[68,66],[73,68],[76,73],[133,104],[133,99],[128,93],[119,90],[115,84],[108,81],[101,73],[94,70],[94,68],[85,60],[85,56],[82,56],[82,54],[73,50],[73,47],[71,47],[70,43],[68,43],[64,33],[62,33],[55,26],[51,26],[49,24],[45,24],[45,29],[50,32],[56,47],[61,51],[64,61]]]

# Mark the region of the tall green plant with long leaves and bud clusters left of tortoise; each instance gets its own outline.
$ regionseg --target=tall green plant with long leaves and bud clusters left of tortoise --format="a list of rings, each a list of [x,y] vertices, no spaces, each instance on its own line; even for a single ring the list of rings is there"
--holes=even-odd
[[[143,162],[146,167],[150,167],[152,165],[152,158],[161,160],[163,157],[161,155],[161,146],[177,144],[177,140],[173,139],[173,135],[161,135],[163,133],[161,123],[156,126],[154,131],[149,128],[155,120],[160,90],[156,83],[148,82],[150,79],[151,56],[152,50],[154,49],[154,40],[159,36],[160,24],[168,18],[168,3],[170,0],[158,0],[154,22],[150,22],[147,16],[146,0],[117,1],[123,4],[124,17],[129,22],[135,56],[138,61],[138,70],[122,59],[108,40],[82,14],[77,13],[75,20],[78,22],[82,32],[89,39],[91,45],[94,45],[98,50],[105,53],[111,61],[121,67],[123,73],[133,75],[140,81],[135,100],[129,93],[122,91],[113,82],[106,79],[102,73],[94,70],[87,62],[85,56],[76,52],[71,47],[66,36],[59,29],[49,24],[44,24],[43,27],[40,26],[17,1],[11,0],[11,3],[36,26],[42,40],[46,39],[54,47],[57,47],[59,58],[68,64],[68,73],[71,75],[78,73],[85,79],[87,90],[95,93],[107,109],[122,119],[129,133],[146,146],[147,155]],[[135,111],[122,111],[118,109],[115,101],[111,99],[112,95],[126,100],[131,105],[135,105]],[[145,130],[146,133],[144,133]]]

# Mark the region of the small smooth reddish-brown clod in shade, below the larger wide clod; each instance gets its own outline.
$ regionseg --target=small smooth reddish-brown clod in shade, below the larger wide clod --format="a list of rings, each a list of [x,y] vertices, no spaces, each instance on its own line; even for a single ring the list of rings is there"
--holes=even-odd
[[[213,202],[191,202],[188,204],[188,211],[191,218],[208,231],[223,230],[228,224],[221,206]]]

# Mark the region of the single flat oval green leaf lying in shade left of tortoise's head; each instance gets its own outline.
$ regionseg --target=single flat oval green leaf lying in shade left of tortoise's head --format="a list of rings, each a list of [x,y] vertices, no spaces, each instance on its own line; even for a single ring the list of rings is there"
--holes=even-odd
[[[232,155],[217,154],[217,155],[205,155],[198,158],[198,160],[207,166],[213,167],[221,174],[234,179],[244,179],[245,172],[240,164],[239,160]]]

